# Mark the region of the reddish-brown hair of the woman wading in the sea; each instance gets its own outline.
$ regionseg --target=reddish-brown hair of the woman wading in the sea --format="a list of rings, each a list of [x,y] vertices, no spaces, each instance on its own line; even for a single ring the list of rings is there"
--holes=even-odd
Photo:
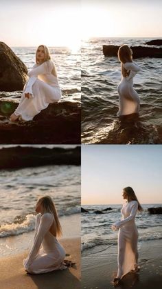
[[[124,63],[132,62],[132,49],[129,48],[128,45],[124,44],[119,47],[117,55],[119,61],[121,62],[122,75],[124,77],[128,77],[130,72],[127,72],[126,68],[124,68]]]

